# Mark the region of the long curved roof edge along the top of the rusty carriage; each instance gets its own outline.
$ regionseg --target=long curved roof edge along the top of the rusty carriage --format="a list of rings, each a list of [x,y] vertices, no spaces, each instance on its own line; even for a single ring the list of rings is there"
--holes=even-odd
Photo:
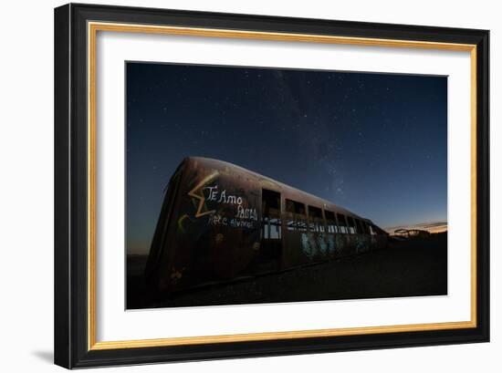
[[[289,194],[296,194],[296,195],[298,195],[298,200],[301,200],[301,202],[306,202],[307,204],[309,204],[313,207],[318,207],[318,208],[320,207],[320,208],[323,208],[324,210],[328,210],[331,212],[343,213],[345,215],[349,215],[349,216],[358,218],[360,220],[363,220],[365,222],[374,224],[371,222],[370,219],[363,218],[360,215],[358,215],[354,212],[350,212],[349,210],[344,209],[343,207],[340,207],[339,205],[337,205],[333,202],[329,202],[328,200],[324,200],[318,196],[310,194],[309,192],[301,191],[298,188],[292,187],[288,184],[285,184],[284,182],[269,178],[265,175],[261,175],[255,171],[247,170],[244,167],[238,166],[234,163],[230,163],[227,161],[214,160],[212,158],[205,158],[205,157],[186,157],[182,161],[182,164],[183,163],[185,163],[185,164],[192,163],[195,165],[195,167],[198,167],[199,165],[201,165],[202,167],[213,168],[215,170],[227,169],[228,171],[232,171],[232,172],[245,173],[249,176],[252,176],[252,177],[258,179],[259,181],[267,181],[269,183],[272,183],[275,186],[277,186],[278,189],[280,189],[281,191],[286,190],[286,191],[288,191]]]

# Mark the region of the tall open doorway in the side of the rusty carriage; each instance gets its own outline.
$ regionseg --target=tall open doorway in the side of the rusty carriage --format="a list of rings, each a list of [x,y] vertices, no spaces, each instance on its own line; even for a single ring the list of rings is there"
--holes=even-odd
[[[260,271],[280,269],[282,258],[282,220],[280,193],[262,190]]]

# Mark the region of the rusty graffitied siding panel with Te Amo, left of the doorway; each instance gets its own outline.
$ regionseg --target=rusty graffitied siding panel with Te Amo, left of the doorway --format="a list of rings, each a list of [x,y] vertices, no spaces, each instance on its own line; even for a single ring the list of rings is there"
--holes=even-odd
[[[253,260],[261,197],[249,184],[253,181],[218,162],[185,162],[159,269],[162,289],[230,279]]]

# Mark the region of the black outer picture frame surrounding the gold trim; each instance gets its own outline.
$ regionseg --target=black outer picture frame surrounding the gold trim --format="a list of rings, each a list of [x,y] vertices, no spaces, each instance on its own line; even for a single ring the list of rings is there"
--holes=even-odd
[[[476,46],[476,323],[331,337],[89,347],[88,22],[348,36]],[[65,368],[489,341],[489,31],[104,5],[55,9],[55,363]]]

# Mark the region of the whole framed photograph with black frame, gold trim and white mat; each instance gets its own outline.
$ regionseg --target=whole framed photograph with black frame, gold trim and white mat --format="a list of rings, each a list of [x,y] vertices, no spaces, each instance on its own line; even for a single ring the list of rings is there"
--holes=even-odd
[[[56,8],[56,364],[487,342],[488,36]]]

